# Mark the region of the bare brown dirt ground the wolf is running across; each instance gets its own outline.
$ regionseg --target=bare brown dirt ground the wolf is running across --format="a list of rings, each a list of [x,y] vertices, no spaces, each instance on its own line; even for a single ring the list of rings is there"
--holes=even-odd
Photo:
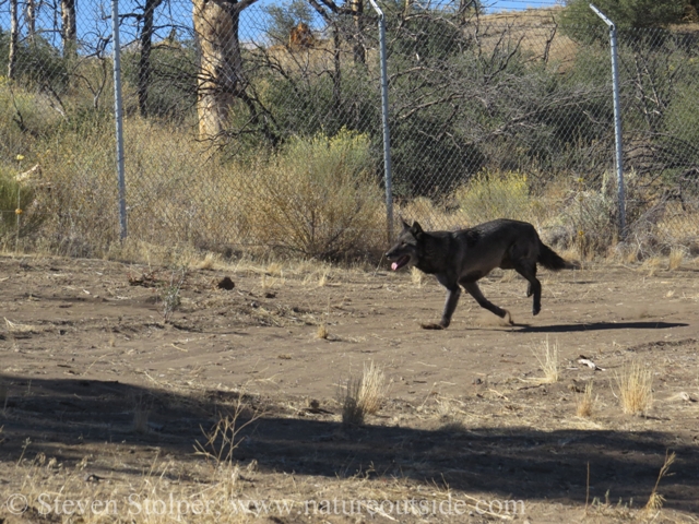
[[[500,272],[482,289],[516,325],[463,296],[426,331],[445,293],[408,271],[0,257],[0,523],[697,522],[699,270],[666,267],[544,270],[535,318]],[[370,362],[388,396],[343,426]],[[632,362],[640,416],[619,406]],[[206,444],[222,414],[232,461]]]

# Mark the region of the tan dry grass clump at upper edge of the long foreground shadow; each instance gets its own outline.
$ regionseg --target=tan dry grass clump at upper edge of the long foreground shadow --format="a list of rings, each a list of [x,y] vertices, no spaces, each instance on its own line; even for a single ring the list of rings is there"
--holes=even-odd
[[[351,378],[341,397],[342,424],[362,426],[366,415],[374,415],[380,408],[388,393],[383,369],[371,362],[364,366],[360,378]]]

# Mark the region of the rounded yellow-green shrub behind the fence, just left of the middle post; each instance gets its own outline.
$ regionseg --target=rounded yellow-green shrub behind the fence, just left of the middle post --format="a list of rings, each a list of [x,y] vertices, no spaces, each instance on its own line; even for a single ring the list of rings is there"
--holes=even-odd
[[[294,139],[237,177],[249,230],[261,243],[323,259],[359,255],[384,233],[381,190],[366,135]]]

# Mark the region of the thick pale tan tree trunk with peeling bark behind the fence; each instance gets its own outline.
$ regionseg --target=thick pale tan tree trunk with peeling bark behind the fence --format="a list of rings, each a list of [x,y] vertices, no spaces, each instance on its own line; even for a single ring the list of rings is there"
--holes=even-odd
[[[223,135],[230,106],[245,93],[238,37],[240,12],[257,0],[193,0],[199,47],[197,111],[201,139]]]

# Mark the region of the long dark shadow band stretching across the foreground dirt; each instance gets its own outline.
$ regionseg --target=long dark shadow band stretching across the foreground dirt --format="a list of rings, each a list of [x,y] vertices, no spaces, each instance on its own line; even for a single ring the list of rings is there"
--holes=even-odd
[[[10,383],[7,407],[0,412],[0,463],[16,462],[27,438],[31,444],[24,456],[43,452],[59,462],[78,462],[85,444],[109,442],[157,445],[182,461],[200,461],[192,453],[193,443],[202,440],[200,425],[211,427],[215,414],[236,400],[236,394],[223,391],[190,397],[119,382],[29,382],[1,374],[0,380]],[[694,445],[677,445],[675,436],[664,432],[531,427],[428,431],[398,426],[345,430],[322,412],[299,416],[264,398],[248,402],[263,408],[265,415],[246,428],[247,440],[236,456],[244,462],[254,458],[261,471],[396,476],[508,499],[584,504],[589,465],[591,497],[604,500],[608,490],[614,502],[633,498],[638,507],[648,500],[670,448],[677,453],[677,462],[674,476],[662,481],[665,507],[699,511],[699,451]],[[144,434],[132,429],[139,403],[151,406],[152,430]],[[407,404],[393,407],[412,408]]]

